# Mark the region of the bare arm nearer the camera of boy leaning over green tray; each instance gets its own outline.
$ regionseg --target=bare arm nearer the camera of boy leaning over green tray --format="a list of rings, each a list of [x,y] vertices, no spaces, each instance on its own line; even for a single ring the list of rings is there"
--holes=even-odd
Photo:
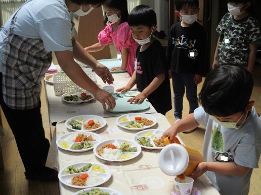
[[[152,82],[143,90],[142,93],[140,93],[139,95],[133,98],[130,98],[128,102],[138,103],[138,104],[142,103],[143,100],[145,100],[146,97],[148,97],[153,91],[155,91],[164,80],[165,80],[165,73],[157,75],[152,80]]]

